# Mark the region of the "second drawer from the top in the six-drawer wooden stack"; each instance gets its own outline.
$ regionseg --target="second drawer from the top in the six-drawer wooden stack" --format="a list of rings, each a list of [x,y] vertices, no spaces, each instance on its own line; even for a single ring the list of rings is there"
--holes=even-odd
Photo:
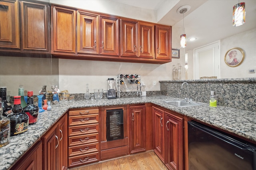
[[[99,114],[90,114],[90,115],[76,115],[68,117],[68,125],[84,125],[91,123],[99,123]]]

